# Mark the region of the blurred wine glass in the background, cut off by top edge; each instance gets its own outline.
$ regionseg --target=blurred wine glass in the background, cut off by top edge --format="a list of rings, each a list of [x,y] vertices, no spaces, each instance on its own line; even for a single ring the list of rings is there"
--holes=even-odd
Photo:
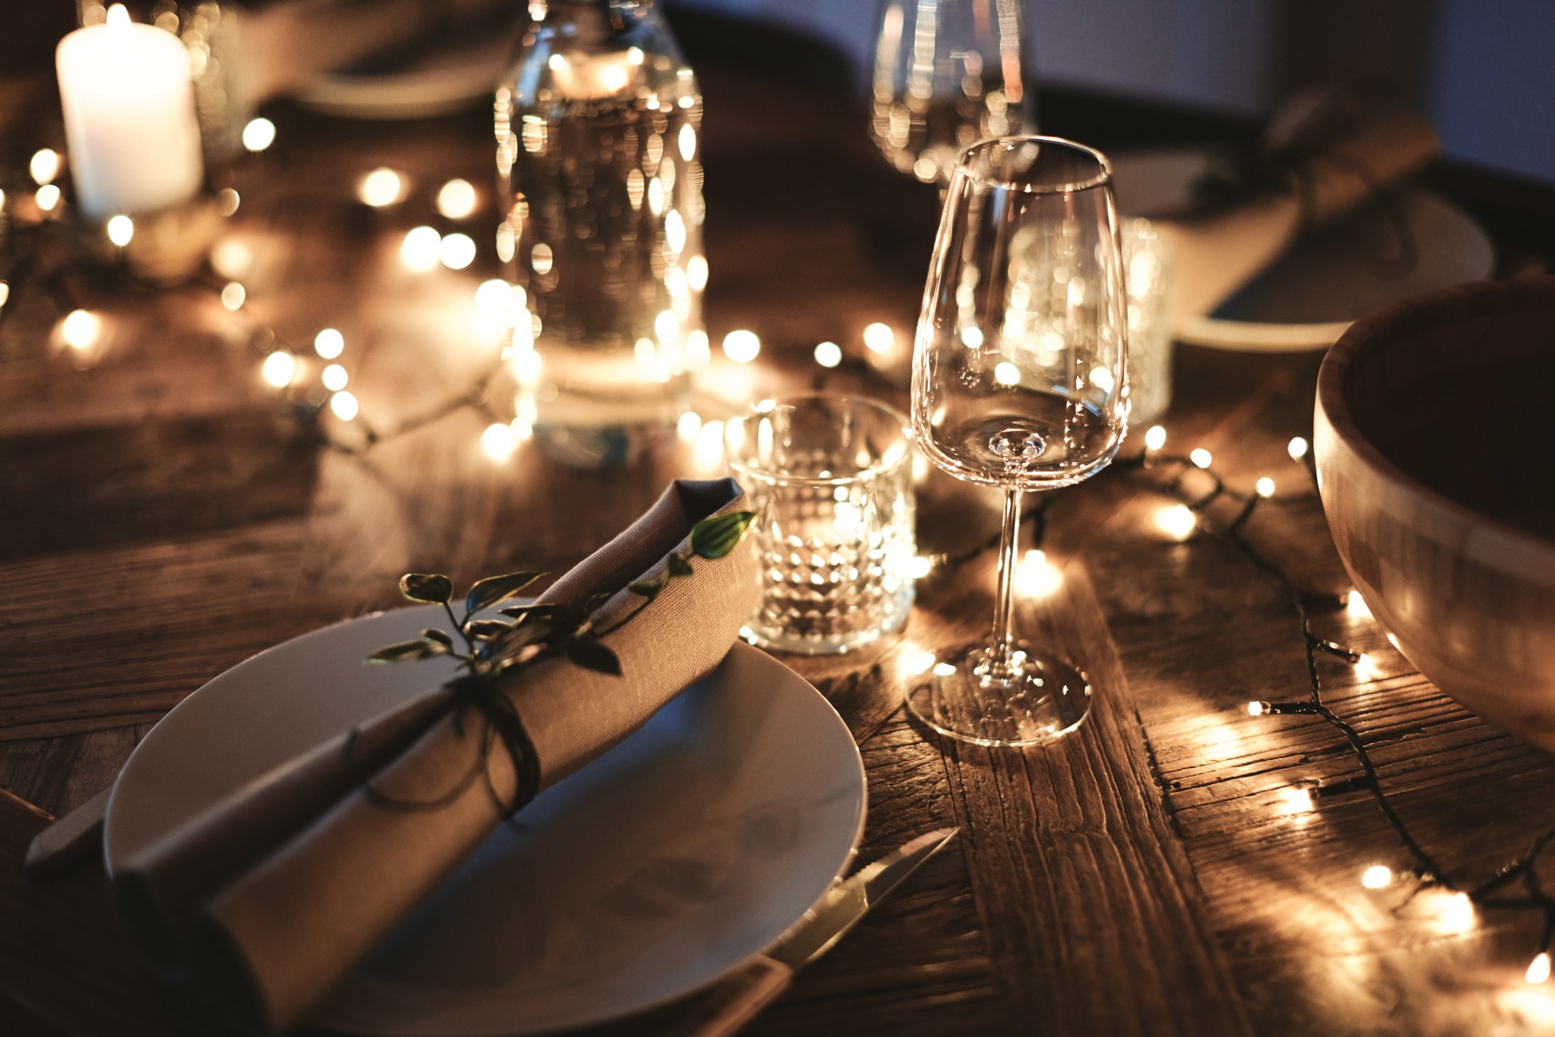
[[[886,0],[869,120],[886,162],[944,185],[966,148],[1036,132],[1025,31],[1026,0]]]

